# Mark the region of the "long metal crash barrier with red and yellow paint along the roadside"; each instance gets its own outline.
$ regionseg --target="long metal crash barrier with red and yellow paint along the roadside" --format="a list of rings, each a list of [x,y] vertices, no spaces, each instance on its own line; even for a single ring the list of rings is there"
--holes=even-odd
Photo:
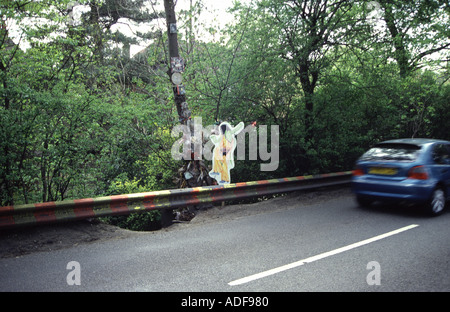
[[[158,209],[175,209],[348,184],[351,171],[0,207],[0,229]]]

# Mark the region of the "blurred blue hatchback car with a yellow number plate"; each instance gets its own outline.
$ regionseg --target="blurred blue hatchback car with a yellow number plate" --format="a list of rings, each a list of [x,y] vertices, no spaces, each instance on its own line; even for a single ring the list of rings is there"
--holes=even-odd
[[[374,201],[409,202],[423,205],[431,215],[439,215],[450,199],[450,142],[381,142],[357,160],[352,190],[360,206]]]

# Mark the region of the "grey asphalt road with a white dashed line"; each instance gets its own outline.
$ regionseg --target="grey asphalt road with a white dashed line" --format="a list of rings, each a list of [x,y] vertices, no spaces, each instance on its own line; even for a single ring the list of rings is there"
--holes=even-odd
[[[450,291],[449,212],[348,193],[279,208],[0,259],[0,291]]]

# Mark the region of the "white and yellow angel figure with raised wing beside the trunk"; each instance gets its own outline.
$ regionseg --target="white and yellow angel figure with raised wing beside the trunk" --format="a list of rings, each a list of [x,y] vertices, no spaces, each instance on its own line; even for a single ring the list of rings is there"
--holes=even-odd
[[[209,176],[216,179],[219,185],[229,184],[231,181],[230,170],[234,168],[236,135],[243,129],[243,122],[240,122],[234,128],[228,122],[222,122],[219,125],[219,134],[210,136],[214,149],[212,170],[209,172]]]

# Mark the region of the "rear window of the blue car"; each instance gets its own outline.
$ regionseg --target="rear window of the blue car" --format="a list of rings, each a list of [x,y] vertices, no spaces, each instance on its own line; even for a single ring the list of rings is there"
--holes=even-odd
[[[383,143],[364,153],[361,160],[415,161],[419,154],[418,145]]]

